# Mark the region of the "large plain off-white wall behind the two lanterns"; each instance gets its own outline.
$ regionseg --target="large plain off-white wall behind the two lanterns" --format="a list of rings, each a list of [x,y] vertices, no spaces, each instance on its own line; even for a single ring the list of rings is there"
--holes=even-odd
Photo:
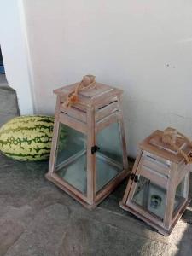
[[[93,73],[125,90],[129,154],[168,125],[192,137],[190,0],[24,0],[38,113]]]

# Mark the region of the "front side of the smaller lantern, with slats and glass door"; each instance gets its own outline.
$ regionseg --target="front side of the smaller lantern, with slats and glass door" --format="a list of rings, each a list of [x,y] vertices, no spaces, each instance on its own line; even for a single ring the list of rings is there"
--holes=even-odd
[[[157,165],[158,163],[158,165]],[[137,163],[136,163],[137,164]],[[154,160],[143,152],[136,172],[131,172],[125,205],[160,226],[166,213],[168,163]]]

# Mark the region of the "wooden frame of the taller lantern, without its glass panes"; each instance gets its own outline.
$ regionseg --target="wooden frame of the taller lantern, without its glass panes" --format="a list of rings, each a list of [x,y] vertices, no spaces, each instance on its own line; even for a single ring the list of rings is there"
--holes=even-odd
[[[128,162],[125,143],[124,121],[121,109],[122,90],[106,84],[96,83],[96,89],[84,90],[79,93],[79,101],[71,107],[66,107],[64,102],[70,91],[78,84],[67,85],[54,90],[57,96],[55,107],[55,125],[53,131],[52,148],[49,159],[49,172],[46,177],[55,183],[68,195],[73,196],[84,207],[94,208],[125,178],[128,173]],[[87,136],[87,195],[67,183],[55,173],[55,154],[59,134],[59,125],[64,124],[80,131]],[[96,134],[108,125],[119,124],[119,133],[123,152],[123,170],[96,193]]]

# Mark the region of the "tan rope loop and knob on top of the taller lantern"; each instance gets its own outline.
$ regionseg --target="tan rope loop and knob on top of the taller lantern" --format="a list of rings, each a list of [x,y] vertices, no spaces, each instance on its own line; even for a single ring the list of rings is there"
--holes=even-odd
[[[73,103],[79,102],[79,91],[88,90],[90,88],[96,88],[96,77],[93,75],[85,75],[81,82],[76,86],[75,90],[68,94],[67,101],[63,103],[64,107],[70,107]]]

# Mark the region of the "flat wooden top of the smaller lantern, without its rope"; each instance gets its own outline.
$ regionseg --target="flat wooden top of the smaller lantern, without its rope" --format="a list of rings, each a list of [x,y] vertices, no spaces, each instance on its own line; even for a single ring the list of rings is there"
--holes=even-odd
[[[145,138],[143,142],[140,143],[140,148],[177,164],[184,160],[182,154],[179,154],[175,148],[172,148],[172,146],[167,143],[163,143],[162,136],[163,131],[154,131],[149,137]],[[177,148],[182,149],[185,154],[189,154],[192,151],[189,143],[187,143],[183,137],[177,137],[176,146]]]

